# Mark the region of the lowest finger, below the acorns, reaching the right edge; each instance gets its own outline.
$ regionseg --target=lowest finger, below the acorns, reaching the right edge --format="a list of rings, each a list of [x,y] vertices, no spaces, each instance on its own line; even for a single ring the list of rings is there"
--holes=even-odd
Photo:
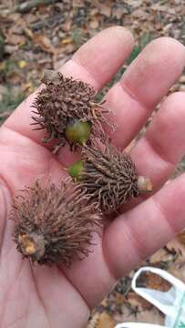
[[[103,243],[110,272],[125,275],[183,229],[184,202],[185,174],[114,220]]]

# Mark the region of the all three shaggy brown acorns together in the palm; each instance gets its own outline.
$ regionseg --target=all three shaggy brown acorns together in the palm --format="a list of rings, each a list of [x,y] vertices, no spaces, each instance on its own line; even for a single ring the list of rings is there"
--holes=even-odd
[[[114,124],[104,103],[96,103],[93,87],[51,70],[42,82],[31,124],[45,130],[43,141],[54,141],[56,154],[68,144],[71,151],[80,150],[81,159],[67,169],[70,178],[60,186],[37,180],[15,197],[13,238],[17,251],[32,262],[70,266],[88,256],[102,218],[152,185],[139,176],[128,153],[109,144],[104,128]]]

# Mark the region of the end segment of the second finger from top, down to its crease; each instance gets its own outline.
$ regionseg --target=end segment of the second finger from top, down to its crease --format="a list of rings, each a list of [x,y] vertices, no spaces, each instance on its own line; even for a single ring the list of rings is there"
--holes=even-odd
[[[159,103],[185,65],[185,48],[170,37],[160,37],[146,47],[121,80],[146,108]]]

